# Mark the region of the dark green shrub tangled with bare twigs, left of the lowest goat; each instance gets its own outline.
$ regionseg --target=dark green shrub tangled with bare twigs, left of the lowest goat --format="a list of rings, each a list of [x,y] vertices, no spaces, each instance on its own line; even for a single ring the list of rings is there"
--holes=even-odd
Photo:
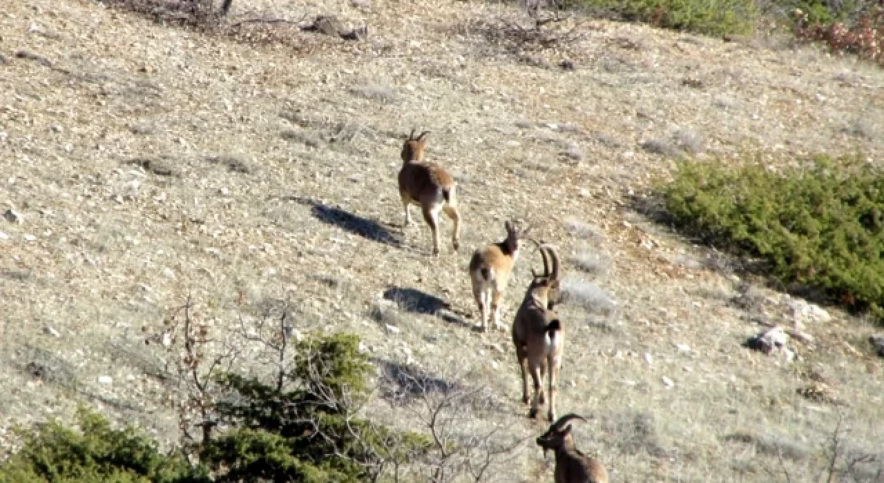
[[[202,461],[223,470],[220,481],[348,482],[423,452],[429,440],[422,435],[354,417],[374,370],[358,348],[352,335],[308,338],[297,343],[292,367],[276,381],[226,374],[233,396],[216,409],[237,429],[204,443]]]

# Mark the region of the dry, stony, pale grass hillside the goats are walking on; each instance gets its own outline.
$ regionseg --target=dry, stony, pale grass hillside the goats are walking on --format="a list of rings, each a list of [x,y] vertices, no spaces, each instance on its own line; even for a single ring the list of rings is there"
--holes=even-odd
[[[473,424],[533,439],[545,423],[523,418],[508,336],[469,328],[469,255],[513,218],[565,261],[559,411],[590,419],[578,446],[613,480],[811,481],[833,447],[849,449],[839,467],[884,448],[872,327],[830,309],[791,365],[744,350],[759,317],[789,321],[787,296],[632,202],[682,152],[880,162],[879,68],[601,20],[552,26],[568,42],[544,48],[507,34],[522,11],[478,1],[238,8],[334,13],[370,37],[248,42],[91,0],[0,4],[0,211],[21,221],[0,220],[0,451],[13,423],[70,417],[77,400],[175,441],[141,327],[188,295],[222,332],[288,300],[301,332],[354,331],[380,366],[491,390],[495,411]],[[438,259],[426,227],[400,228],[413,126],[459,179],[461,251]],[[526,250],[511,287],[532,262]],[[816,382],[831,397],[807,397]],[[383,393],[371,416],[422,427]],[[879,468],[854,464],[865,481]],[[551,475],[528,447],[494,476]]]

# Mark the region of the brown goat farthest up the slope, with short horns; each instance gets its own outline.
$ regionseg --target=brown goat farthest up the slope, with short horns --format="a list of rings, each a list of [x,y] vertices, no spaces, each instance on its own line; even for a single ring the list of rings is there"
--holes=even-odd
[[[420,205],[423,219],[430,225],[433,232],[433,255],[439,254],[438,219],[439,212],[454,222],[452,245],[454,251],[460,246],[461,214],[457,209],[457,182],[448,171],[433,162],[424,162],[423,153],[427,147],[424,136],[429,131],[421,132],[415,138],[415,130],[411,130],[408,140],[402,146],[402,169],[399,171],[399,194],[405,208],[405,226],[411,224],[411,204]]]

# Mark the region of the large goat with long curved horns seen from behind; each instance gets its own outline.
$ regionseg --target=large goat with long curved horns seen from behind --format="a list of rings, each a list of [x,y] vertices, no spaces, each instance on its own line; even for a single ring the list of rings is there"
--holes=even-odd
[[[543,246],[537,240],[529,238],[540,250],[544,261],[544,273],[534,275],[522,299],[522,306],[515,313],[513,321],[513,343],[515,356],[522,370],[522,401],[529,402],[528,374],[534,380],[534,398],[531,400],[529,418],[537,418],[539,404],[544,404],[543,379],[544,373],[549,375],[549,420],[555,419],[556,385],[559,382],[559,368],[564,350],[565,335],[562,331],[559,315],[549,306],[551,301],[558,301],[556,293],[559,286],[559,255],[550,246]],[[552,273],[550,262],[552,259]]]

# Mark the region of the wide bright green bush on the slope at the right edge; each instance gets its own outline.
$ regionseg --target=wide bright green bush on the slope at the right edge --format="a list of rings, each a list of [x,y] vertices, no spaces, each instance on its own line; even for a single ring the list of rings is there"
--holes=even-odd
[[[884,177],[856,158],[818,157],[774,173],[682,162],[662,188],[682,229],[760,256],[789,289],[813,289],[852,310],[884,307]]]

